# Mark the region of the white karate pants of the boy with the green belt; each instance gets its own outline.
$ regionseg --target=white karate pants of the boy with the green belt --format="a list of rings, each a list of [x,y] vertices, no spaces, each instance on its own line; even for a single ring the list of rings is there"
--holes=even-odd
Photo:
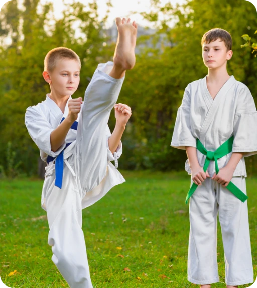
[[[233,177],[231,181],[246,194],[243,176]],[[188,281],[201,285],[219,282],[218,213],[225,254],[226,284],[236,286],[254,282],[247,201],[242,203],[227,188],[210,178],[205,179],[190,198]]]

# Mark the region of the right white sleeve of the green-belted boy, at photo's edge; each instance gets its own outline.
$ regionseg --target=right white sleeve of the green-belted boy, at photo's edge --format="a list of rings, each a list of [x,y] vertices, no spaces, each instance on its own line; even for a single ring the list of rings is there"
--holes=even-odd
[[[257,111],[248,88],[239,95],[233,127],[232,153],[247,152],[244,157],[257,154]]]

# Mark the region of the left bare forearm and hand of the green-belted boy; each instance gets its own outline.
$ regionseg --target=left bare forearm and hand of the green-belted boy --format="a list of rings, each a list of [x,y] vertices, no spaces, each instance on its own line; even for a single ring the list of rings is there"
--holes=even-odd
[[[196,148],[195,147],[189,147],[186,146],[186,152],[187,152],[187,158],[189,161],[190,169],[191,169],[191,175],[192,180],[197,185],[202,185],[202,182],[207,178],[210,177],[208,171],[206,173],[203,170],[203,167],[199,165],[197,154],[196,154]]]

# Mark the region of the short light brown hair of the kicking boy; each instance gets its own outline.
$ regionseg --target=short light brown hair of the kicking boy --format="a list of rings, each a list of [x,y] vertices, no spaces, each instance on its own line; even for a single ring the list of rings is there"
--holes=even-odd
[[[70,48],[66,47],[57,47],[50,50],[44,60],[44,70],[52,72],[56,66],[56,62],[59,59],[68,58],[78,61],[78,64],[81,68],[81,62],[78,55]]]

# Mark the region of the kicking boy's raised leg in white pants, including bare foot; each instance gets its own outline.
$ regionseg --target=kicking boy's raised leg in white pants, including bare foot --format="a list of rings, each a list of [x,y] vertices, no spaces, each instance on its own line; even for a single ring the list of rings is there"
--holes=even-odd
[[[109,75],[101,66],[95,71],[85,92],[77,131],[77,169],[83,193],[98,186],[107,168],[105,129],[123,83],[126,69],[135,65],[137,28],[130,20],[117,19],[118,42]],[[106,67],[104,68],[106,69]],[[112,77],[113,76],[113,77]],[[114,78],[117,77],[117,78]]]

